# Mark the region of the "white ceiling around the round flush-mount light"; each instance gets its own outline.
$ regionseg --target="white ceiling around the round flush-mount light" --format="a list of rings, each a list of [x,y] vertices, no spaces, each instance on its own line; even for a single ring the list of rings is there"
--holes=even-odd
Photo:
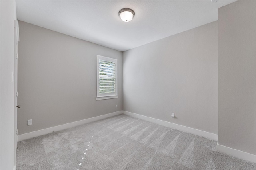
[[[126,51],[218,20],[236,0],[16,0],[18,20]],[[118,12],[135,16],[123,22]]]

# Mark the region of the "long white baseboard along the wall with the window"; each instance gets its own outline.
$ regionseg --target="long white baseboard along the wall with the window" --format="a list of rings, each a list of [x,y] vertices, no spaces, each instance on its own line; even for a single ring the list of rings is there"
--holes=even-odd
[[[82,124],[85,124],[85,123],[90,123],[90,122],[93,122],[93,121],[98,121],[98,120],[105,119],[105,118],[108,118],[108,117],[112,117],[112,116],[115,116],[115,115],[120,115],[122,113],[123,113],[123,111],[117,111],[117,112],[109,113],[109,114],[106,114],[106,115],[101,115],[101,116],[96,116],[96,117],[92,117],[92,118],[89,118],[89,119],[84,119],[84,120],[80,120],[80,121],[74,121],[74,122],[71,122],[71,123],[66,123],[64,125],[58,125],[58,126],[49,127],[49,128],[46,128],[46,129],[41,129],[41,130],[38,130],[38,131],[33,131],[33,132],[30,132],[30,133],[24,133],[24,134],[18,135],[18,142],[23,141],[25,139],[30,139],[32,137],[37,137],[37,136],[45,135],[45,134],[48,134],[48,133],[52,133],[52,131],[61,131],[61,130],[64,130],[64,129],[68,129],[70,127],[75,127],[75,126],[82,125]]]

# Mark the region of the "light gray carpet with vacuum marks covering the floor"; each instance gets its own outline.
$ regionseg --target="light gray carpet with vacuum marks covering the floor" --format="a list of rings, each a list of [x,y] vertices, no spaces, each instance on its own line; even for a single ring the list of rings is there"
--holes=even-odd
[[[19,142],[16,168],[256,170],[256,164],[216,151],[216,144],[204,137],[118,115]]]

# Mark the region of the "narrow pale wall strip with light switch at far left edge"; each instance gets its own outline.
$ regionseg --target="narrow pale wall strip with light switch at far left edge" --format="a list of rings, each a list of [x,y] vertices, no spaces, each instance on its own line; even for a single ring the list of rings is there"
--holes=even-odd
[[[0,169],[14,166],[14,19],[15,1],[0,1]]]

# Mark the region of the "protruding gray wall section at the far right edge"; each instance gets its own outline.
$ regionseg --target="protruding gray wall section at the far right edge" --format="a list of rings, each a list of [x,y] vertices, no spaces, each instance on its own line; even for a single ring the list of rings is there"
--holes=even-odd
[[[219,144],[256,154],[256,1],[218,12]]]

